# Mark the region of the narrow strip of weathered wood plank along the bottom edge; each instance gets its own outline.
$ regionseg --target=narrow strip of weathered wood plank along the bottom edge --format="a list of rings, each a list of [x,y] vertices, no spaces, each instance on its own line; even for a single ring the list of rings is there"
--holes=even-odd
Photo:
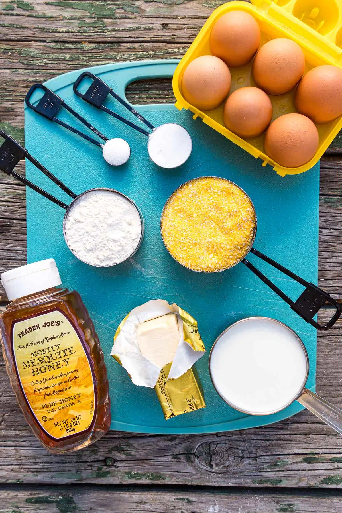
[[[267,492],[254,490],[195,490],[158,488],[86,487],[0,487],[0,500],[8,513],[338,513],[342,511],[341,495],[324,491],[296,490]],[[110,509],[109,509],[110,508]],[[113,509],[112,509],[113,508]]]

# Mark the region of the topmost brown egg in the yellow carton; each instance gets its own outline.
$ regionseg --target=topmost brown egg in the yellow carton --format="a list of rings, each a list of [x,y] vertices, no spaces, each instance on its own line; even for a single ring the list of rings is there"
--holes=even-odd
[[[221,16],[210,34],[210,50],[228,66],[243,66],[260,45],[260,28],[251,14],[230,11]]]

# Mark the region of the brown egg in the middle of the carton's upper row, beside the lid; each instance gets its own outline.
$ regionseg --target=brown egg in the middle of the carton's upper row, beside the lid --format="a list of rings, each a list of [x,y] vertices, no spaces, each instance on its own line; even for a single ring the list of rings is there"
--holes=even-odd
[[[285,37],[261,46],[253,62],[253,78],[268,94],[284,94],[304,73],[305,57],[297,43]]]

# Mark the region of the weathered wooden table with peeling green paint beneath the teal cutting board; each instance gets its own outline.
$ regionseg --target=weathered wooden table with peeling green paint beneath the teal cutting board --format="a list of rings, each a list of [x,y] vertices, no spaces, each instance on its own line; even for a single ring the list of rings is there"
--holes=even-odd
[[[216,0],[5,0],[0,127],[23,141],[29,87],[113,61],[180,57]],[[135,104],[171,102],[170,81],[136,83]],[[342,300],[342,140],[321,160],[319,285]],[[24,163],[19,169],[24,173]],[[280,177],[279,177],[280,180]],[[0,271],[26,263],[25,188],[0,175]],[[0,290],[0,308],[6,297]],[[323,311],[324,321],[328,311]],[[342,407],[342,321],[318,334],[317,392]],[[273,426],[200,436],[111,431],[50,455],[17,406],[0,360],[0,511],[6,513],[342,511],[342,438],[304,411]]]

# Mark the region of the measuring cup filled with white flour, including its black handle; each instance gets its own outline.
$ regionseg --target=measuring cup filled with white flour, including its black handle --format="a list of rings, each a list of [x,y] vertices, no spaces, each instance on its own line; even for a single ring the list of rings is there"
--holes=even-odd
[[[75,194],[3,130],[0,136],[0,169],[66,210],[63,234],[78,260],[95,267],[112,267],[133,257],[144,238],[144,219],[134,203],[122,192],[105,187]],[[67,205],[14,171],[25,158],[42,171],[71,198]]]

